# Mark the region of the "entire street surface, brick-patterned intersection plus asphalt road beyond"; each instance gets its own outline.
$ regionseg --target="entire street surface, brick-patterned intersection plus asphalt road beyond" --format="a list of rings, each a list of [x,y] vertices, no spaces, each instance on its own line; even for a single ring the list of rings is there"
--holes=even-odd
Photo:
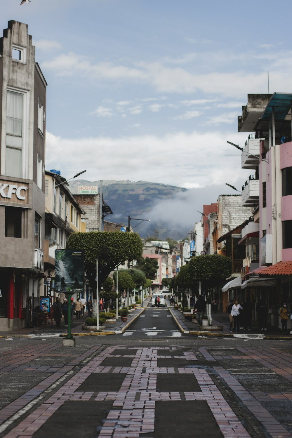
[[[0,437],[292,437],[291,341],[194,337],[169,314],[75,348],[0,339]]]

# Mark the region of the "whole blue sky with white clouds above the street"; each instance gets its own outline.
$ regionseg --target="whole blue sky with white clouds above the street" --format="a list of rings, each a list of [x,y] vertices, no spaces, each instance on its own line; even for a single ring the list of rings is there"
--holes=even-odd
[[[46,169],[66,178],[198,189],[200,210],[202,193],[216,202],[252,173],[227,144],[248,137],[247,93],[267,93],[267,71],[270,92],[292,92],[289,0],[0,0],[0,11],[2,29],[28,24],[48,83]]]

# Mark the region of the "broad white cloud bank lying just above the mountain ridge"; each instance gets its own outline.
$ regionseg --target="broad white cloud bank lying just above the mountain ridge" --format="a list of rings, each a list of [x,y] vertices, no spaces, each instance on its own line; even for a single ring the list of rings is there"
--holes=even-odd
[[[240,187],[250,170],[241,169],[240,156],[225,156],[232,153],[228,139],[244,145],[246,133],[221,133],[212,128],[204,134],[62,138],[48,132],[46,169],[58,162],[65,177],[84,168],[88,180],[96,180],[98,175],[101,180],[146,180],[176,186],[187,182],[201,187],[228,182]]]

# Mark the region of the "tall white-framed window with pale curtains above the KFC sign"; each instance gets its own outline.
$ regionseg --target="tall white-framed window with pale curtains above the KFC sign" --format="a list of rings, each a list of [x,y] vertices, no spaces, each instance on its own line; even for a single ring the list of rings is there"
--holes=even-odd
[[[23,94],[7,91],[6,170],[10,177],[21,177]]]

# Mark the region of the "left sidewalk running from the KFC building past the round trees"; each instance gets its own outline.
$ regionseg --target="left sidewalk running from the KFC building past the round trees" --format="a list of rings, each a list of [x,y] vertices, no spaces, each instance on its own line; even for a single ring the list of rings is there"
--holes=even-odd
[[[106,323],[106,329],[102,330],[102,332],[94,332],[90,330],[83,330],[82,325],[85,325],[86,318],[88,318],[87,312],[84,314],[84,318],[76,319],[74,317],[73,322],[71,323],[71,333],[72,336],[96,336],[96,335],[115,335],[118,333],[123,333],[134,320],[144,312],[145,307],[148,306],[150,297],[147,297],[143,302],[142,306],[136,306],[136,310],[129,311],[128,319],[126,322],[123,322],[120,318],[113,323]],[[0,338],[9,338],[13,336],[17,337],[37,337],[43,335],[49,336],[66,336],[67,335],[67,327],[64,326],[64,319],[61,318],[61,327],[57,327],[55,321],[53,321],[53,325],[41,325],[40,327],[29,327],[24,329],[17,329],[11,332],[0,332]]]

